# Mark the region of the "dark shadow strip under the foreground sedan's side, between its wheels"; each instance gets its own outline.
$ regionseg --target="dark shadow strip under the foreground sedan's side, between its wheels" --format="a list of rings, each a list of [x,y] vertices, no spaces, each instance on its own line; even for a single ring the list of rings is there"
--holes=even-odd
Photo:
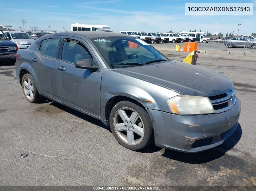
[[[50,100],[50,101],[51,101],[51,100]],[[46,102],[46,103],[47,103],[47,102]],[[104,123],[102,123],[102,121],[99,120],[99,119],[95,119],[95,118],[93,118],[93,117],[91,117],[91,116],[88,116],[88,115],[86,115],[86,114],[84,114],[84,113],[81,113],[81,112],[79,112],[79,111],[77,111],[77,110],[74,110],[74,109],[71,109],[71,108],[69,108],[69,107],[66,107],[66,106],[64,106],[64,105],[62,105],[62,104],[60,104],[60,103],[55,102],[55,101],[53,101],[53,102],[50,103],[49,105],[52,105],[52,106],[54,106],[54,107],[57,107],[57,108],[60,109],[60,110],[63,110],[63,111],[65,111],[65,112],[68,112],[68,113],[70,113],[71,115],[74,115],[74,116],[76,116],[76,117],[79,117],[80,119],[83,119],[83,120],[85,120],[85,121],[88,121],[89,123],[92,123],[92,124],[94,124],[94,125],[100,126],[100,127],[104,128],[104,129],[107,129],[109,132],[111,132],[110,127],[106,126],[106,125],[105,125]],[[112,133],[112,132],[111,132],[111,133]]]

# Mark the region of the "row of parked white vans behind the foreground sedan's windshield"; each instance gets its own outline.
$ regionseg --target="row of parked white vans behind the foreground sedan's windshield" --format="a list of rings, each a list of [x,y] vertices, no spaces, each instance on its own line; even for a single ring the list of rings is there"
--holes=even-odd
[[[120,31],[122,34],[128,34],[134,37],[138,37],[147,43],[184,43],[184,42],[195,42],[194,37],[188,34],[175,34],[175,33],[152,33],[142,31]]]

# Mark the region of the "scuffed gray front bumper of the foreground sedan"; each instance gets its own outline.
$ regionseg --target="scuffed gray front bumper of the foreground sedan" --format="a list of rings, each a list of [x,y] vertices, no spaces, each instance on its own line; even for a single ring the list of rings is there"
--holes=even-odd
[[[150,114],[155,145],[181,152],[200,152],[221,145],[237,125],[241,102],[222,113],[180,116],[159,110],[146,109]]]

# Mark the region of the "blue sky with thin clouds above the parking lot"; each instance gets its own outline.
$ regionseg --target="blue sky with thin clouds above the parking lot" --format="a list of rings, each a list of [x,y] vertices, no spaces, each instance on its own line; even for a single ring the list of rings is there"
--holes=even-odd
[[[185,3],[254,3],[254,16],[185,16]],[[196,29],[204,32],[256,33],[256,0],[0,0],[0,25],[38,27],[38,30],[70,30],[71,24],[106,24],[120,30],[174,32]]]

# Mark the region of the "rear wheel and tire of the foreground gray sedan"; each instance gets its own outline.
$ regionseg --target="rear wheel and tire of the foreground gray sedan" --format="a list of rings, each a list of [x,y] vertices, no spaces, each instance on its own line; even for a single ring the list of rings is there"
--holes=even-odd
[[[35,86],[35,81],[30,74],[24,74],[22,77],[22,90],[25,98],[31,103],[38,103],[42,100]]]

